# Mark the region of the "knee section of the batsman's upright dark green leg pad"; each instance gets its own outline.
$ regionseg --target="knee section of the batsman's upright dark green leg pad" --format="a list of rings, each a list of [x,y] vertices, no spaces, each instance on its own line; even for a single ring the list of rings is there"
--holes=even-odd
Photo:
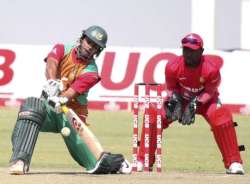
[[[21,105],[17,120],[30,120],[42,126],[46,116],[46,109],[43,100],[35,97],[28,97]]]

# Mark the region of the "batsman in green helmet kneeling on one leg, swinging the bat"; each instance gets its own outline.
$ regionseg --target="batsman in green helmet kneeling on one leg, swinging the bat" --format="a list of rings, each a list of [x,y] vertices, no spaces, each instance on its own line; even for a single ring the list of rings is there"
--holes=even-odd
[[[29,171],[39,132],[60,133],[62,129],[67,134],[63,138],[70,155],[87,173],[131,172],[124,156],[105,152],[86,126],[88,92],[101,80],[95,60],[107,39],[102,27],[90,26],[76,45],[56,44],[49,52],[45,58],[47,82],[41,98],[27,98],[18,113],[12,133],[10,174]]]

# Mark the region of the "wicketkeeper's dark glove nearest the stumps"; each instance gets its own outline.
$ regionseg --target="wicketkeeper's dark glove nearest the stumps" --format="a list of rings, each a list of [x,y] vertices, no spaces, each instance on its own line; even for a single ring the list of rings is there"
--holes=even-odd
[[[164,108],[168,120],[180,121],[182,116],[182,97],[177,93],[173,93],[169,101],[165,101]]]

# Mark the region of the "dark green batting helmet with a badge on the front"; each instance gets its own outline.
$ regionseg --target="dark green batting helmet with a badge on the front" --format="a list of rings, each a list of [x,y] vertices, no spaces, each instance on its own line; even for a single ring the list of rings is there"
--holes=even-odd
[[[107,32],[100,26],[90,26],[88,29],[82,32],[81,38],[87,36],[90,40],[95,42],[101,48],[106,47],[108,40]]]

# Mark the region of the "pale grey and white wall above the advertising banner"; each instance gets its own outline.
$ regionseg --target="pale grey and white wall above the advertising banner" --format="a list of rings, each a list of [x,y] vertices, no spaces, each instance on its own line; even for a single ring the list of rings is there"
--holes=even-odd
[[[98,24],[110,46],[178,48],[198,32],[209,49],[250,49],[250,0],[2,0],[0,43],[75,42]]]

